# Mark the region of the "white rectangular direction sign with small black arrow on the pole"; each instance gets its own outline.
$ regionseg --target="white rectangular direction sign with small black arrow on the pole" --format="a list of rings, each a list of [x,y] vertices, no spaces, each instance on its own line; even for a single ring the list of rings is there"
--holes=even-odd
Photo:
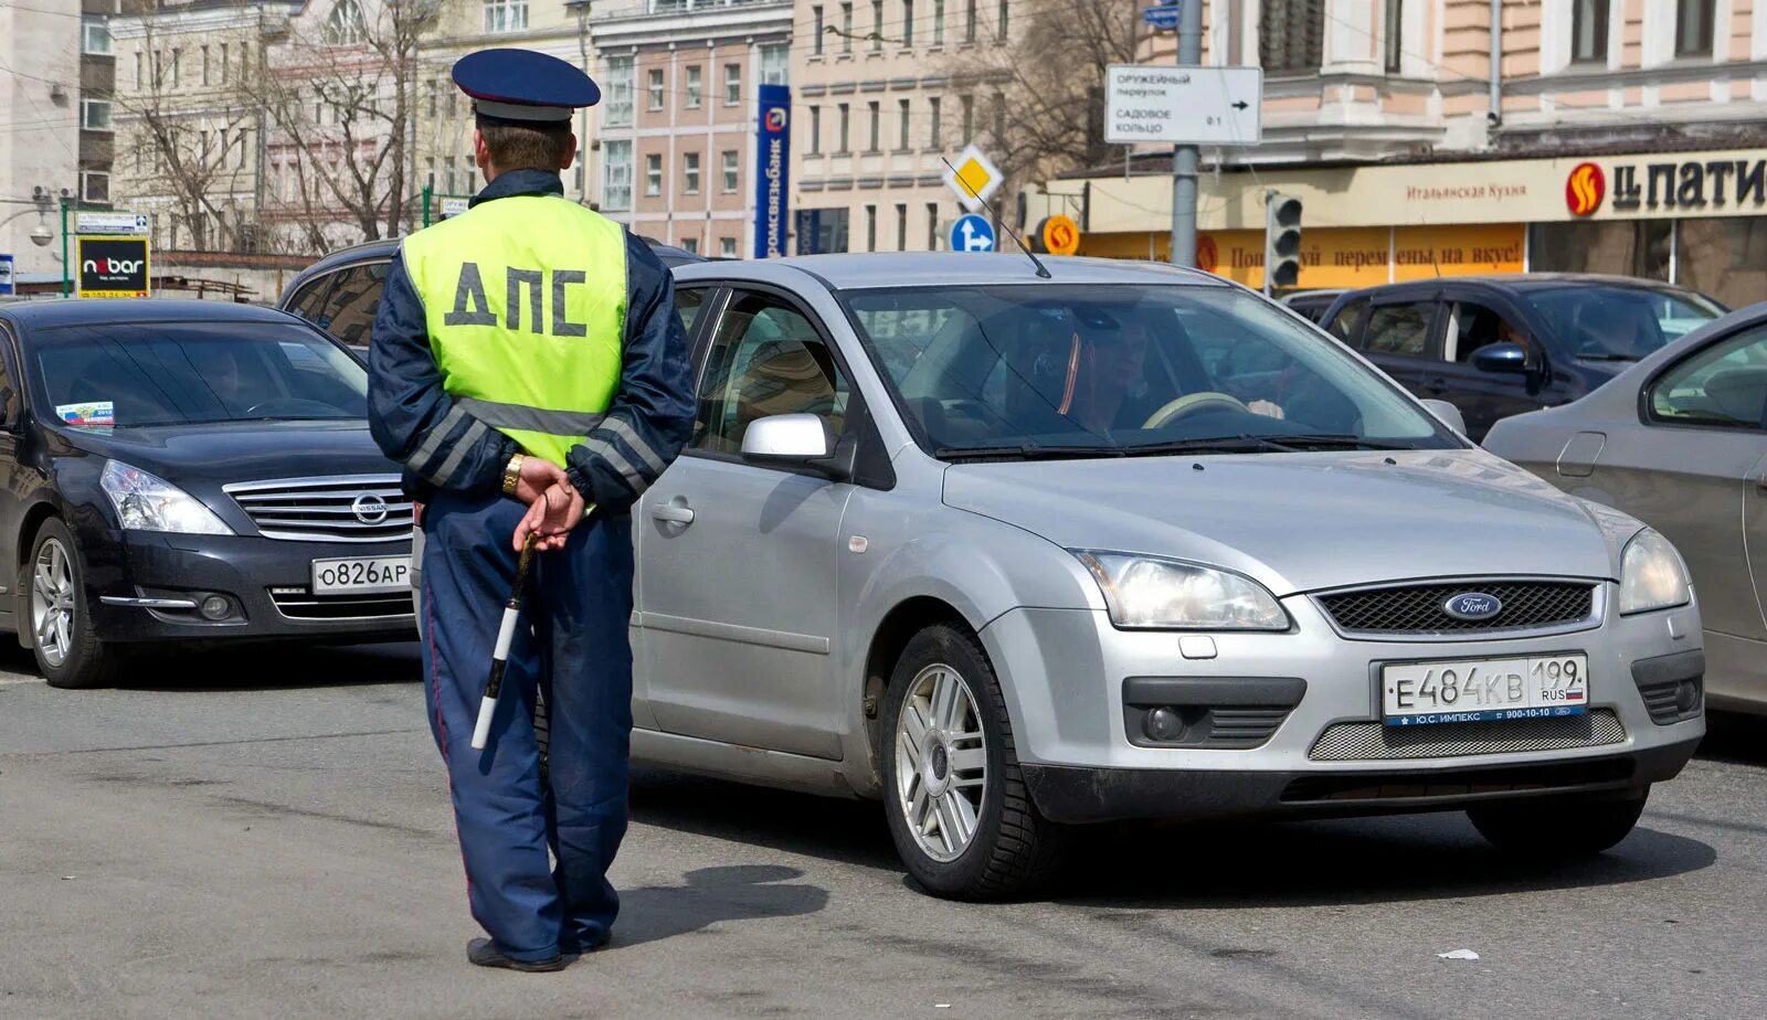
[[[1104,141],[1258,145],[1262,67],[1113,64],[1104,79]]]

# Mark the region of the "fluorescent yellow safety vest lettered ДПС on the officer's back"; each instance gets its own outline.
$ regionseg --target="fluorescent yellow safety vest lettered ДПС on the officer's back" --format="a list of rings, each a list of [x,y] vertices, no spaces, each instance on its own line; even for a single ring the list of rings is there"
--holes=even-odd
[[[564,466],[620,385],[626,228],[518,194],[422,229],[401,252],[456,408]]]

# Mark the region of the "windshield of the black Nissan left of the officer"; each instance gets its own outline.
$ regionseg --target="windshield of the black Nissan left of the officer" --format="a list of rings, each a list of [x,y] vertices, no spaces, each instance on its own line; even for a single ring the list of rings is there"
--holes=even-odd
[[[74,427],[366,418],[368,372],[292,323],[143,323],[32,334],[37,404]]]

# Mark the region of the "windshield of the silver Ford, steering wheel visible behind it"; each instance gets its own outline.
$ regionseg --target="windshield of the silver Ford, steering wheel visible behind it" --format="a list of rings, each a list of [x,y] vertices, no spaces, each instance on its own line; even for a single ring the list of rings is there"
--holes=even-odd
[[[1460,445],[1336,342],[1239,289],[1011,284],[841,300],[942,457]]]

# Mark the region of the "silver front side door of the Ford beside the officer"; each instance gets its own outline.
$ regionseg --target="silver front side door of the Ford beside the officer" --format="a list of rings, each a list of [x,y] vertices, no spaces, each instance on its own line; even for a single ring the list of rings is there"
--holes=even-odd
[[[710,325],[693,439],[638,505],[638,635],[664,732],[836,759],[836,542],[852,485],[746,462],[769,415],[853,420],[816,318],[737,289]]]

